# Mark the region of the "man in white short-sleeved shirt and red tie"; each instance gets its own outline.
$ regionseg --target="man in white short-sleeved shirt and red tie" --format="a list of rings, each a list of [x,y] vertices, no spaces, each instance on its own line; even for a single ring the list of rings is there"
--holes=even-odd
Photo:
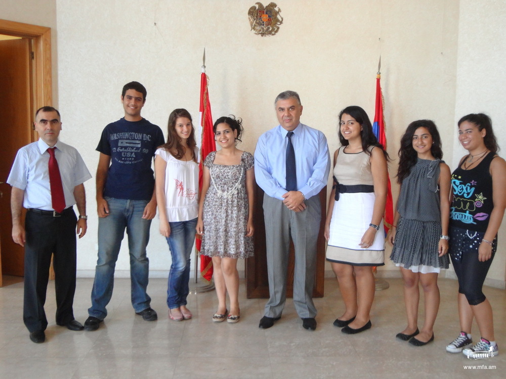
[[[73,147],[58,140],[60,113],[42,107],[35,113],[39,139],[19,149],[7,182],[12,185],[12,238],[25,248],[23,320],[30,340],[42,343],[48,320],[44,311],[51,255],[54,254],[56,323],[82,330],[74,319],[76,234],[86,234],[83,183],[92,176]],[[77,206],[79,218],[73,205]],[[21,222],[26,208],[25,224]]]

